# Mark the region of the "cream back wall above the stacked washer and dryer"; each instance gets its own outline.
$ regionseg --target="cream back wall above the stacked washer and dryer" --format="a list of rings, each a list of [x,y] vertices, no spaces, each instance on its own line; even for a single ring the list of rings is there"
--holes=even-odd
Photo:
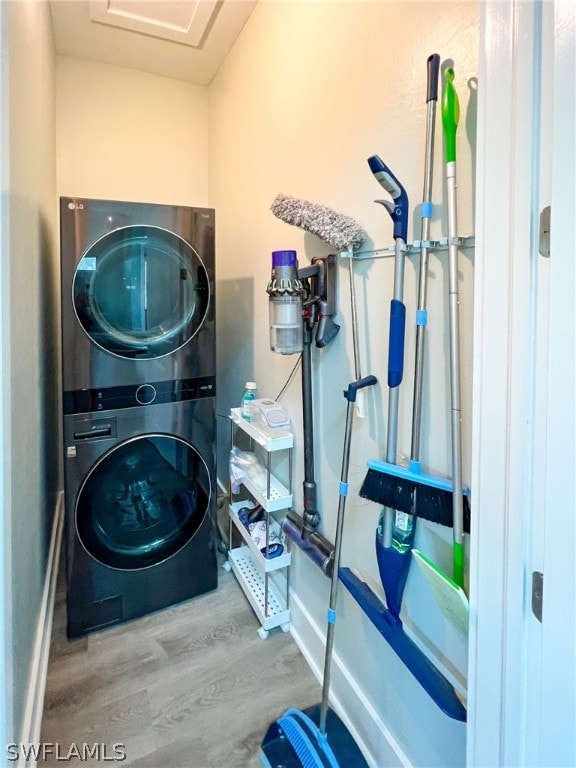
[[[208,204],[203,86],[57,60],[58,195]]]

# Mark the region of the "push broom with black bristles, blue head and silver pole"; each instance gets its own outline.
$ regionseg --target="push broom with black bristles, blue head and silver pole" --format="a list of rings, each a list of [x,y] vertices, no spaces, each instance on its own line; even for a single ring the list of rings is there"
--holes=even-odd
[[[420,275],[418,310],[416,313],[416,369],[414,374],[414,403],[412,413],[412,441],[408,467],[387,461],[370,459],[368,472],[360,489],[360,496],[385,508],[416,515],[444,526],[453,525],[454,484],[448,478],[429,475],[420,464],[420,422],[422,412],[422,379],[424,361],[424,332],[427,321],[426,281],[429,248],[430,218],[432,215],[432,158],[434,146],[434,118],[438,99],[438,74],[440,57],[428,58],[427,130],[424,194],[422,203]],[[469,531],[470,509],[467,489],[464,495],[464,530]]]

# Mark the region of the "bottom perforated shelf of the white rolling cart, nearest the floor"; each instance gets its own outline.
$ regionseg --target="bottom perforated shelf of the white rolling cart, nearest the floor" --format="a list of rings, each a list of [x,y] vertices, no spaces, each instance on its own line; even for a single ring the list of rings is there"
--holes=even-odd
[[[252,558],[248,547],[238,547],[228,552],[228,561],[236,578],[244,587],[254,613],[264,630],[281,627],[282,631],[290,629],[290,609],[281,597],[274,584],[268,579],[268,594],[266,581]]]

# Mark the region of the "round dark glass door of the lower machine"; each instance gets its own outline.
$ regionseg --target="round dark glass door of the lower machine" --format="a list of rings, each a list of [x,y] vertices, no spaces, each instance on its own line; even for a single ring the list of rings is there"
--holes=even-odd
[[[76,530],[110,568],[150,568],[179,552],[209,507],[210,477],[189,443],[167,435],[133,438],[105,454],[76,501]]]

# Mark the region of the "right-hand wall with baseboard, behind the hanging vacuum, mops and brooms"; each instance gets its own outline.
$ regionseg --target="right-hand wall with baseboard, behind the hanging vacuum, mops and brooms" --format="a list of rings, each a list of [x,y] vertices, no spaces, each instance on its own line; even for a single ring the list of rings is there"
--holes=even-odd
[[[421,201],[425,129],[426,59],[453,59],[461,101],[458,132],[459,233],[474,232],[476,67],[478,9],[472,2],[274,2],[260,3],[210,88],[210,203],[218,213],[218,360],[221,430],[220,473],[226,475],[226,414],[244,381],[254,378],[261,396],[275,397],[295,358],[268,345],[270,252],[295,248],[301,264],[329,246],[270,213],[278,192],[319,202],[353,216],[370,240],[392,242],[390,220],[372,202],[385,195],[366,159],[378,153],[408,190],[409,239],[419,237],[414,209]],[[439,116],[438,116],[439,117]],[[441,124],[437,123],[432,237],[446,234]],[[446,369],[446,253],[431,259],[429,341],[422,458],[428,471],[449,474],[449,406]],[[401,392],[399,449],[409,452],[413,376],[416,259],[406,266],[405,385]],[[391,259],[357,265],[362,373],[379,386],[369,416],[356,423],[343,564],[378,583],[373,554],[377,505],[358,498],[368,457],[382,457],[386,428],[388,305]],[[473,251],[460,262],[464,475],[470,474]],[[346,264],[339,269],[342,330],[331,346],[313,350],[316,480],[322,530],[333,540],[345,401],[354,378]],[[296,508],[301,508],[301,397],[299,377],[283,398],[297,434]],[[417,543],[450,572],[448,530],[421,523]],[[292,569],[293,628],[313,666],[321,667],[327,582],[299,557]],[[405,597],[408,624],[420,627],[455,680],[466,672],[466,643],[438,615],[412,569]],[[402,667],[386,642],[347,595],[336,632],[335,692],[379,766],[409,761],[421,766],[465,763],[465,726],[445,717]]]

